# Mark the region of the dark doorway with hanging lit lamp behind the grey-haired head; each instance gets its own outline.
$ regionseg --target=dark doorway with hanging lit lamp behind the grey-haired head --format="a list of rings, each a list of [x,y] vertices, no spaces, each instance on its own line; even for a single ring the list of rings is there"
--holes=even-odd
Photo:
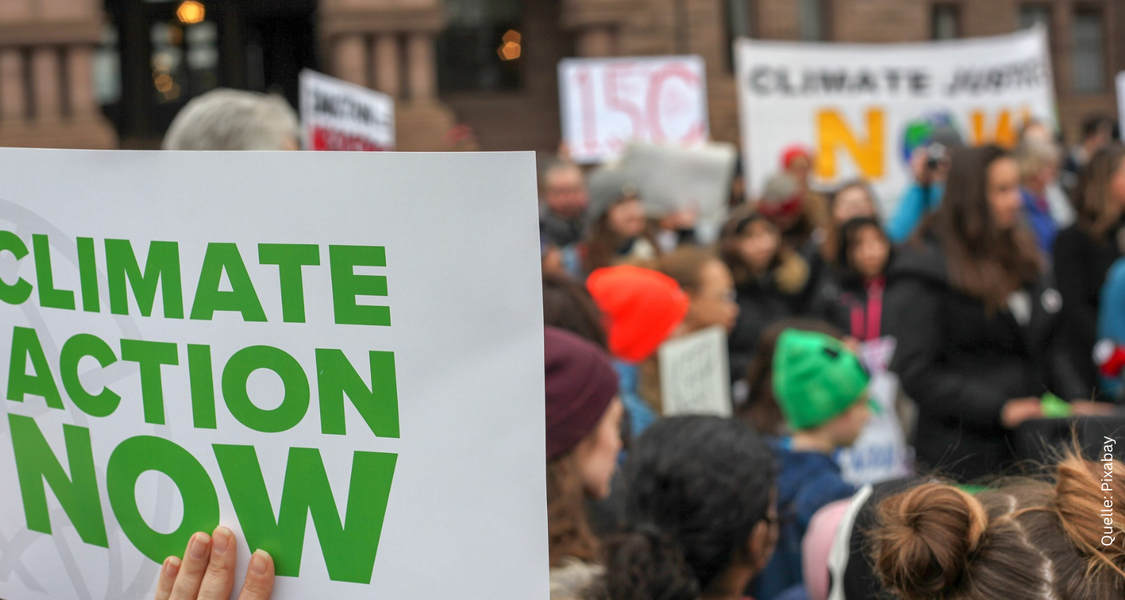
[[[192,98],[217,87],[297,106],[316,69],[316,0],[106,0],[98,97],[123,147],[156,147]]]

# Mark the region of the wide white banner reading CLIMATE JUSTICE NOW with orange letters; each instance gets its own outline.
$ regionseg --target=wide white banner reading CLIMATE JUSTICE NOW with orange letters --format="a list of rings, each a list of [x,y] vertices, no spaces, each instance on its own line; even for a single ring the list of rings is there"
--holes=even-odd
[[[921,44],[739,39],[735,53],[750,195],[800,143],[816,153],[814,183],[862,177],[890,215],[910,153],[935,128],[952,126],[970,145],[1012,145],[1028,118],[1055,123],[1043,28]]]

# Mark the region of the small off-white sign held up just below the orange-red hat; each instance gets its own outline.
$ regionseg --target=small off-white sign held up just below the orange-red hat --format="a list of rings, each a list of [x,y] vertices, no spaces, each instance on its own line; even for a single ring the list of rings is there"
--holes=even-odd
[[[730,417],[730,367],[722,328],[668,340],[660,346],[660,401],[665,417]]]

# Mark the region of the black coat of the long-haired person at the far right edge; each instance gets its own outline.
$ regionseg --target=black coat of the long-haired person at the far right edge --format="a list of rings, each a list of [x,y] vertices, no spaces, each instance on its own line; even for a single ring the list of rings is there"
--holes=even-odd
[[[1066,343],[1077,359],[1079,376],[1089,396],[1097,383],[1098,371],[1094,365],[1094,344],[1098,341],[1098,304],[1106,274],[1114,261],[1120,258],[1117,232],[1114,227],[1102,240],[1096,242],[1078,225],[1059,232],[1054,245],[1054,270],[1062,293],[1062,320],[1066,329]]]

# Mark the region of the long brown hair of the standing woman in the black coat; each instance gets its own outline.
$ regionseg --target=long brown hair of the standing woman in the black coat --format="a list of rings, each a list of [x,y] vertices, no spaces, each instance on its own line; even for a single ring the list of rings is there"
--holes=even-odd
[[[1026,227],[1001,230],[989,206],[989,168],[1011,155],[997,145],[953,154],[945,197],[918,235],[935,235],[945,251],[950,281],[961,293],[996,311],[1008,296],[1035,283],[1042,263]]]

